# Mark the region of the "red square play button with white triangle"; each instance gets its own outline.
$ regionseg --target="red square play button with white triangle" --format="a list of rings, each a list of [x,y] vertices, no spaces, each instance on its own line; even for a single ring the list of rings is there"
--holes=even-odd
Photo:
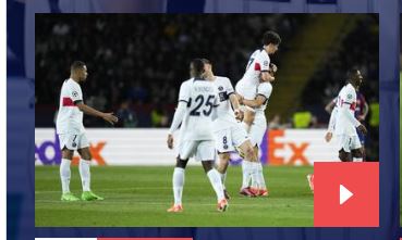
[[[315,163],[314,226],[378,227],[378,163]]]

